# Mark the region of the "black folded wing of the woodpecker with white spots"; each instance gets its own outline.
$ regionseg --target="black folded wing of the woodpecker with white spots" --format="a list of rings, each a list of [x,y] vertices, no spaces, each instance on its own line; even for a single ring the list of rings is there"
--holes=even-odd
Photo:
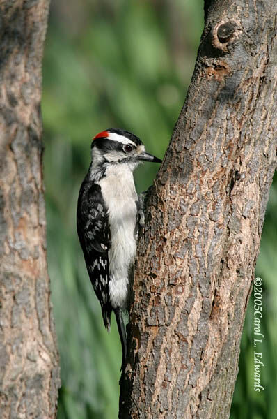
[[[109,220],[100,186],[86,179],[79,193],[77,231],[90,281],[100,300],[104,325],[109,330]]]

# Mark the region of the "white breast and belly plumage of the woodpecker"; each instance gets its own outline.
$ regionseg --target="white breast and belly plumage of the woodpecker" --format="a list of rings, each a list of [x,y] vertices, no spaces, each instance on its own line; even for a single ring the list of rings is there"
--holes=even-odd
[[[102,189],[109,212],[111,248],[109,250],[109,292],[112,307],[125,307],[129,286],[129,270],[136,256],[136,200],[132,170],[126,164],[106,169],[97,182]]]

